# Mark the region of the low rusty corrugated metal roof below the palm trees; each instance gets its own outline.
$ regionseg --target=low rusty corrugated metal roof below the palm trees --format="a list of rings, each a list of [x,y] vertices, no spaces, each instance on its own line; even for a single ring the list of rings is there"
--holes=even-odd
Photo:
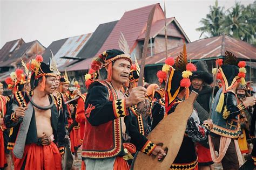
[[[225,51],[232,52],[240,59],[251,59],[256,61],[256,47],[247,42],[237,40],[228,36],[218,36],[206,39],[199,39],[186,44],[187,59],[200,60],[224,56]],[[168,55],[176,58],[182,52],[183,45],[169,49]],[[165,52],[146,58],[146,65],[164,63]]]

